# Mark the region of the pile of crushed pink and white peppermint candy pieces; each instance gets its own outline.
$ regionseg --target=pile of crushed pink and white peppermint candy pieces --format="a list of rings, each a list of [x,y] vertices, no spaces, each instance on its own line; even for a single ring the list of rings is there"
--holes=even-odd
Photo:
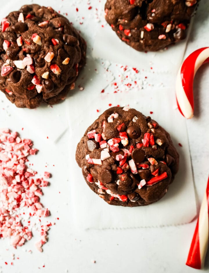
[[[40,203],[40,197],[43,195],[41,188],[49,185],[44,178],[51,175],[44,172],[44,178],[34,178],[37,172],[27,167],[27,157],[37,151],[30,139],[20,138],[17,132],[9,129],[0,129],[0,236],[10,238],[15,248],[22,246],[32,238],[30,220],[36,218],[40,224],[40,241],[35,245],[43,251],[42,245],[47,242],[52,224],[41,224],[40,217],[47,217],[50,212]],[[26,221],[21,220],[26,215],[27,224],[23,225]]]

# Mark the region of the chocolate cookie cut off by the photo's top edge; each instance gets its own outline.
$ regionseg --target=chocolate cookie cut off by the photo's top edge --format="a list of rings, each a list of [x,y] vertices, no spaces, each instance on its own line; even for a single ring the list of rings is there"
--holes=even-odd
[[[105,18],[138,51],[157,51],[186,37],[198,0],[107,0]]]

